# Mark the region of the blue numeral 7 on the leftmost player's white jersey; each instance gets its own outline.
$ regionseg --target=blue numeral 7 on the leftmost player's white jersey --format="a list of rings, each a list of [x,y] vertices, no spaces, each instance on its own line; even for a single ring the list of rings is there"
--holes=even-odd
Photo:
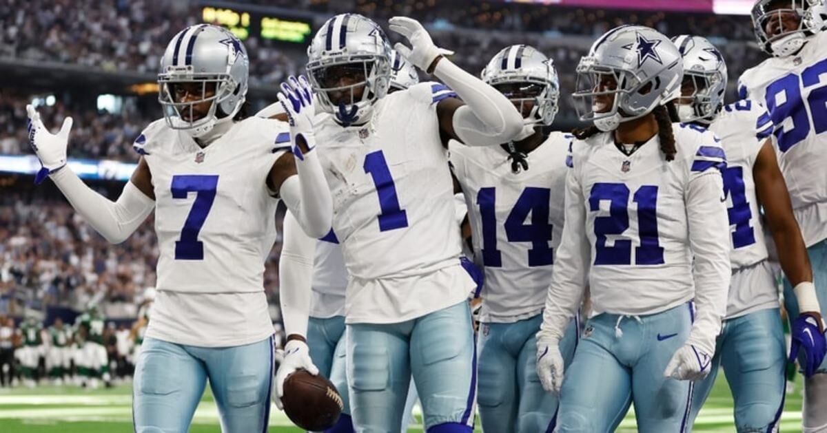
[[[185,174],[172,177],[173,198],[186,198],[189,193],[196,193],[193,207],[189,209],[181,239],[175,241],[176,260],[203,260],[204,245],[198,240],[198,233],[207,221],[207,214],[213,207],[218,175]]]

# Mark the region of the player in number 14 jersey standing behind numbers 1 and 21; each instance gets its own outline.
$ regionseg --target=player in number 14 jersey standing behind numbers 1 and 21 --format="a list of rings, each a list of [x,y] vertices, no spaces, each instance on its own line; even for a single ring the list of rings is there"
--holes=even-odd
[[[571,136],[543,131],[557,114],[560,83],[552,60],[538,50],[500,50],[482,79],[514,103],[534,132],[499,146],[451,145],[475,261],[485,270],[477,344],[480,420],[485,431],[546,431],[557,397],[543,390],[537,376],[534,335],[562,233]],[[576,334],[572,323],[561,343],[566,363]]]

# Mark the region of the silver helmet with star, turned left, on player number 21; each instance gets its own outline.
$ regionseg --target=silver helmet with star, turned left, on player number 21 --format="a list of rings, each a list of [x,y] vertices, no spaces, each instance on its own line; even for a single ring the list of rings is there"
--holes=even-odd
[[[577,114],[600,131],[613,131],[681,95],[681,53],[667,36],[646,26],[606,32],[576,71]]]

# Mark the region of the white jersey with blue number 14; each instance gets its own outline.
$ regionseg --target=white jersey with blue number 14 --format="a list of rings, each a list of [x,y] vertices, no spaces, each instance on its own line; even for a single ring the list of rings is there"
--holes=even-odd
[[[485,269],[482,322],[514,322],[543,311],[560,244],[566,156],[572,136],[552,132],[515,174],[501,146],[452,141],[451,163],[466,197],[474,261]]]

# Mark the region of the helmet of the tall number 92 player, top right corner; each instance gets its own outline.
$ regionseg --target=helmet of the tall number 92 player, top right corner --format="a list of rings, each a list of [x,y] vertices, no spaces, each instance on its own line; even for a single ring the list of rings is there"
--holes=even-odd
[[[786,57],[800,50],[809,36],[824,30],[827,5],[825,0],[758,0],[752,15],[761,50]]]

